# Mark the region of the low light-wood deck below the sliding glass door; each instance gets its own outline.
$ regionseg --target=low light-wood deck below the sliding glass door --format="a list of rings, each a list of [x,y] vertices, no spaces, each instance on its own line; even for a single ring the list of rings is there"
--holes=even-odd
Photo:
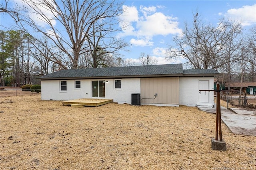
[[[97,107],[100,105],[105,105],[107,103],[112,103],[113,99],[75,99],[63,101],[63,105],[84,105],[84,106],[93,106]]]

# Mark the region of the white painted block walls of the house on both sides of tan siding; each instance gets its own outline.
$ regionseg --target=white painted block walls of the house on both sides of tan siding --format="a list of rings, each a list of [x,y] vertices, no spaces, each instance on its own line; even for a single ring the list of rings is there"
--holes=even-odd
[[[97,79],[94,79],[97,80]],[[115,79],[98,79],[108,81],[105,83],[105,98],[113,99],[114,102],[128,103],[132,93],[140,92],[140,78],[121,79],[121,89],[115,89]],[[199,80],[208,80],[209,89],[214,89],[213,77],[180,77],[179,78],[179,104],[197,106],[199,101]],[[67,81],[67,91],[60,91],[60,81]],[[81,89],[75,89],[75,80],[44,80],[42,85],[42,100],[72,100],[92,97],[92,79],[80,80]],[[208,92],[207,92],[208,93]],[[208,105],[214,105],[213,92],[209,92]],[[97,98],[96,98],[97,99]],[[100,99],[100,98],[98,98]]]

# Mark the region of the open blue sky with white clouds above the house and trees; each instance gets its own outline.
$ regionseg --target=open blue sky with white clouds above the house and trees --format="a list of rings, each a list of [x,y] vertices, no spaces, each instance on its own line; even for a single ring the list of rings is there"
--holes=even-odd
[[[14,1],[18,2],[18,0]],[[122,19],[128,28],[116,36],[131,45],[129,52],[122,52],[124,59],[138,63],[140,53],[145,53],[158,64],[182,63],[181,60],[166,60],[166,50],[174,45],[174,36],[182,36],[184,22],[192,24],[193,12],[207,24],[217,25],[222,17],[242,21],[244,31],[256,25],[255,0],[127,0],[124,2]],[[8,15],[0,16],[1,30],[13,28],[14,20]],[[6,28],[5,28],[6,27]]]

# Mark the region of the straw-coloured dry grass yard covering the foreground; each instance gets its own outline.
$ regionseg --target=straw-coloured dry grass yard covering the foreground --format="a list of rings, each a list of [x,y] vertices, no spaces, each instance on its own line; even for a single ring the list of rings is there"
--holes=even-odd
[[[227,150],[212,150],[216,115],[196,107],[74,108],[40,94],[0,103],[1,170],[256,168],[256,137],[222,124]]]

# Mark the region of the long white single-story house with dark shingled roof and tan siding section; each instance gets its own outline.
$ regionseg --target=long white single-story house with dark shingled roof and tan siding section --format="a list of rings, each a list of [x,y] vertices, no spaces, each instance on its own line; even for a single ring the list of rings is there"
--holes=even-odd
[[[40,77],[42,100],[113,99],[158,106],[214,106],[214,69],[183,69],[182,64],[60,70]]]

